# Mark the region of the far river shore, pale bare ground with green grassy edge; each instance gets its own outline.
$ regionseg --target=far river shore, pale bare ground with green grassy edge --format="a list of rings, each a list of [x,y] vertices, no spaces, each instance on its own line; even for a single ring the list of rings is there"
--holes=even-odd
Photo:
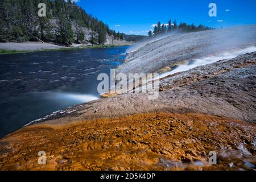
[[[42,43],[42,42],[24,42],[24,43],[0,43],[0,55],[11,54],[11,53],[26,53],[26,52],[37,52],[37,51],[61,51],[68,49],[77,48],[106,48],[106,47],[117,47],[127,45],[104,45],[104,46],[90,46],[88,44],[75,44],[71,46],[58,46],[53,43]]]

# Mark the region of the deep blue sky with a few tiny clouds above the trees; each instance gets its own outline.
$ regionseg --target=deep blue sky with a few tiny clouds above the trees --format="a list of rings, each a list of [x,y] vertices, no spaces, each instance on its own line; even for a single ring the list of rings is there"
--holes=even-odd
[[[256,0],[74,0],[87,13],[125,34],[146,35],[158,21],[205,24],[214,28],[256,24]],[[208,5],[217,5],[217,17]]]

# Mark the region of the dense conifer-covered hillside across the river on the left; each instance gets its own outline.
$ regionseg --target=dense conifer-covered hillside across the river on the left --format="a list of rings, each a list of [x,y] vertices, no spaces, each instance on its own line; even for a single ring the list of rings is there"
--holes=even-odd
[[[46,17],[38,16],[39,3],[46,4]],[[123,39],[108,24],[94,18],[71,0],[1,0],[0,41],[34,41],[71,45],[84,40],[83,28],[90,30],[92,44],[104,44],[106,35]],[[32,36],[31,36],[32,35]]]

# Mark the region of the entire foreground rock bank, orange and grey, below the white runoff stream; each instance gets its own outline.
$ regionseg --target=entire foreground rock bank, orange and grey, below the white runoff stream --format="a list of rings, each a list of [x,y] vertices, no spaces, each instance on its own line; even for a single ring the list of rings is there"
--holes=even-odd
[[[164,77],[154,101],[129,93],[54,113],[0,140],[0,169],[254,170],[255,63],[252,52]]]

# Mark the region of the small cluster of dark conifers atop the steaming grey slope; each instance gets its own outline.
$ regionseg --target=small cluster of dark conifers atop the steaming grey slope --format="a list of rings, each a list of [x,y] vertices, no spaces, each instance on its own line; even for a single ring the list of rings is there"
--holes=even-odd
[[[150,30],[148,32],[148,36],[158,36],[163,35],[171,32],[175,32],[177,30],[181,32],[194,32],[194,31],[203,31],[203,30],[212,30],[211,27],[205,27],[203,24],[200,24],[199,26],[195,26],[195,24],[187,24],[187,23],[180,23],[177,24],[177,21],[169,20],[168,23],[164,24],[161,22],[158,22],[158,24],[154,27],[154,31]]]

